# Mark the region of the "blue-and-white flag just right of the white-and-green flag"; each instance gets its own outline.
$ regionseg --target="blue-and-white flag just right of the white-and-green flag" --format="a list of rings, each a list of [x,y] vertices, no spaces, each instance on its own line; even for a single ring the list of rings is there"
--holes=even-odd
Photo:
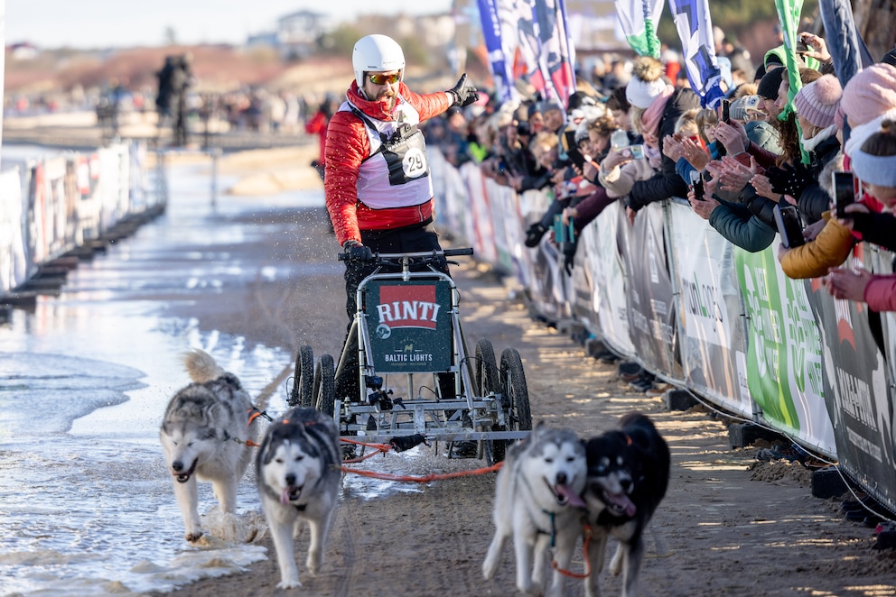
[[[714,108],[725,92],[720,85],[722,71],[715,58],[709,3],[707,0],[669,0],[669,10],[681,39],[687,80],[700,96],[700,105]]]

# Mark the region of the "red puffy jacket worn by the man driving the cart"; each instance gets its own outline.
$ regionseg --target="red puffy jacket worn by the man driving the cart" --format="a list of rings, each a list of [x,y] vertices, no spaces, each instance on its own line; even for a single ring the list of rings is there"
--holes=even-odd
[[[451,105],[443,91],[417,95],[404,83],[398,88],[420,115],[423,122],[442,114]],[[383,102],[371,102],[358,95],[358,84],[351,83],[348,96],[351,104],[365,115],[376,120],[390,121],[392,115]],[[433,216],[433,200],[421,206],[371,209],[364,205],[364,197],[358,197],[358,169],[370,154],[370,142],[365,124],[350,111],[332,115],[327,128],[326,177],[323,181],[327,210],[336,240],[345,243],[349,239],[360,241],[361,230],[385,230],[415,225]]]

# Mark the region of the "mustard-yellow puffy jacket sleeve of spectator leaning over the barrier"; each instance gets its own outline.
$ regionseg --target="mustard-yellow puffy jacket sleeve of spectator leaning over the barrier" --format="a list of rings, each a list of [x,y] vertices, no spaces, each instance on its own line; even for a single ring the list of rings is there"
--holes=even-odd
[[[802,280],[824,276],[830,268],[845,262],[853,250],[855,239],[849,228],[831,217],[830,212],[825,212],[823,217],[826,225],[813,240],[781,256],[781,270],[789,278]]]

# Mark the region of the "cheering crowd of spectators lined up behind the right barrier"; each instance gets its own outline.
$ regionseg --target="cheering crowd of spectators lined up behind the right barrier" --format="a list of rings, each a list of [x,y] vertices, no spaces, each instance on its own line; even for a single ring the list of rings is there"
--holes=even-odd
[[[527,247],[555,242],[546,232],[556,221],[577,238],[615,201],[634,223],[650,203],[686,198],[748,252],[783,234],[778,259],[790,278],[822,278],[837,299],[896,310],[896,275],[847,262],[857,243],[896,249],[896,49],[840,80],[843,51],[832,56],[809,32],[798,41],[795,96],[783,44],[753,68],[717,36],[720,106],[701,107],[677,55],[664,51],[663,60],[599,61],[578,73],[565,106],[537,93],[513,103],[483,94],[429,121],[427,140],[455,167],[471,162],[519,193],[549,192]],[[839,192],[835,178],[845,180]],[[570,272],[576,243],[562,244]]]

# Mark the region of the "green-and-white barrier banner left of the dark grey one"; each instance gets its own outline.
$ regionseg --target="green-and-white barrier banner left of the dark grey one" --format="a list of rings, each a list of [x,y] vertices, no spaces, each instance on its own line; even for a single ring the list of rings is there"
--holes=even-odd
[[[747,384],[761,420],[823,455],[836,454],[827,414],[821,333],[803,280],[791,280],[775,255],[734,249],[747,311]]]

